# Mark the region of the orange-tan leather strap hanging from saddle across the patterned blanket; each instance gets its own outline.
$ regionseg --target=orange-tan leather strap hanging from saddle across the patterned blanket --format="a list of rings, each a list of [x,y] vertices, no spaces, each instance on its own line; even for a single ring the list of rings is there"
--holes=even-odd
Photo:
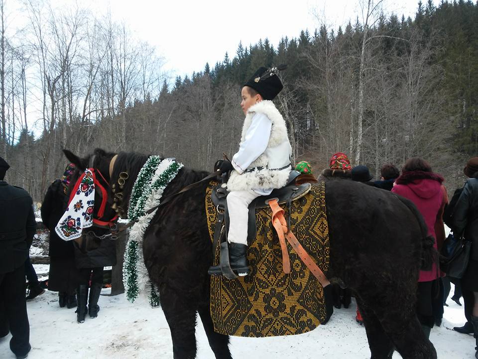
[[[311,273],[314,275],[314,277],[317,278],[319,283],[322,285],[322,287],[325,287],[330,284],[329,280],[325,276],[324,272],[315,264],[313,259],[310,257],[310,255],[307,253],[307,251],[302,247],[302,245],[299,243],[297,240],[296,236],[294,233],[292,233],[286,225],[286,221],[284,218],[284,210],[279,206],[277,203],[277,199],[272,199],[269,202],[269,206],[272,209],[272,223],[274,225],[274,228],[277,231],[277,234],[279,236],[279,241],[281,240],[281,236],[287,238],[287,241],[290,243],[292,248],[294,248],[295,252],[299,255],[299,258],[304,262],[304,264],[309,268]],[[278,225],[276,225],[278,223]],[[278,228],[280,225],[280,230],[282,233],[280,234]],[[285,245],[285,243],[284,243]],[[284,249],[282,248],[282,242],[281,242],[281,249],[282,249],[282,260],[284,261]],[[287,247],[285,248],[285,251],[287,252]],[[289,262],[289,255],[287,253],[287,266],[289,267],[289,272],[286,272],[285,270],[285,263],[283,262],[282,264],[284,268],[285,273],[290,273],[290,262]]]

